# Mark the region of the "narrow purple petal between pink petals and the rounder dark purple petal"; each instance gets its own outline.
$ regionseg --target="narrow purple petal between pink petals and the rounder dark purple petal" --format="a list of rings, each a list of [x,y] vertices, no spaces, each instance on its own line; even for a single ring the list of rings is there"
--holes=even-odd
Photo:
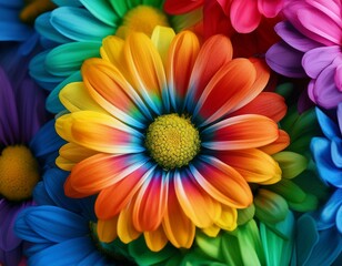
[[[283,41],[301,52],[308,52],[311,49],[321,45],[320,43],[300,33],[289,21],[279,22],[274,27],[274,30],[283,39]]]

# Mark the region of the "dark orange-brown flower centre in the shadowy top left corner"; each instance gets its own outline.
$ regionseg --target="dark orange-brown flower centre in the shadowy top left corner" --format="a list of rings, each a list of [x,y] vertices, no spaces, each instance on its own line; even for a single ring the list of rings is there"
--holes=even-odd
[[[24,7],[19,17],[22,22],[33,23],[38,16],[56,7],[57,6],[51,0],[24,0]]]

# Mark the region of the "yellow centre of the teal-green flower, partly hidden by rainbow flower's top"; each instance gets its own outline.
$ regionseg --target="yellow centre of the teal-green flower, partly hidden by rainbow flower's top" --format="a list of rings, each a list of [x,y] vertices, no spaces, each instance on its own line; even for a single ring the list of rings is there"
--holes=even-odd
[[[125,39],[131,32],[139,31],[150,37],[155,25],[169,27],[168,17],[157,8],[138,6],[124,14],[115,34]]]

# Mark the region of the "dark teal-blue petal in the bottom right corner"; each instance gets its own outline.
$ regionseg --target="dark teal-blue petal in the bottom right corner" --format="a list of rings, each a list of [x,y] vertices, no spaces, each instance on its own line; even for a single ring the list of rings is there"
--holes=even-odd
[[[342,252],[342,235],[335,227],[320,231],[319,242],[303,266],[331,265]]]

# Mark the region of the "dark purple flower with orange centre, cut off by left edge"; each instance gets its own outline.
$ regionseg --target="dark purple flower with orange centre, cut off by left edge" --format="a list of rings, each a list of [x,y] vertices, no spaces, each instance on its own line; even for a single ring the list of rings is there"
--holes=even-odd
[[[21,258],[23,243],[14,235],[14,219],[34,204],[33,187],[42,172],[54,164],[62,144],[54,121],[47,123],[44,91],[26,69],[17,66],[17,71],[24,74],[11,83],[0,69],[0,264],[4,265],[18,265]]]

